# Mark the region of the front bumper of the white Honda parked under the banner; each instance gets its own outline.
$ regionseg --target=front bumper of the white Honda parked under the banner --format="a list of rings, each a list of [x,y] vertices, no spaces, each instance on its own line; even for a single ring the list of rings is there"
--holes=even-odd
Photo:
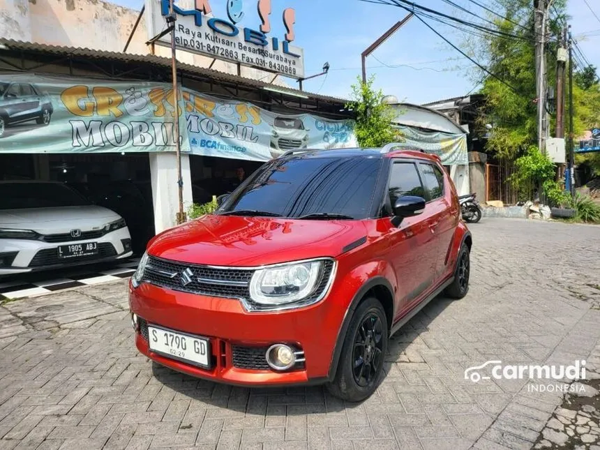
[[[86,257],[74,257],[70,260],[60,260],[57,248],[78,243],[98,243],[98,254]],[[80,266],[119,260],[133,255],[131,237],[127,227],[105,234],[97,239],[68,242],[45,242],[34,239],[0,239],[0,255],[15,254],[8,266],[0,265],[0,276],[15,273],[28,273],[62,267]]]

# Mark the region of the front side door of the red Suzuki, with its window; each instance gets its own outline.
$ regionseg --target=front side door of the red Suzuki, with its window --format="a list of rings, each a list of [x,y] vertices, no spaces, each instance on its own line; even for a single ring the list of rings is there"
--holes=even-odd
[[[404,195],[425,197],[417,163],[412,160],[394,160],[389,177],[389,200],[393,205]],[[389,239],[390,260],[398,279],[399,308],[395,320],[422,299],[433,284],[437,243],[431,230],[431,208],[423,213],[405,218],[391,232]]]

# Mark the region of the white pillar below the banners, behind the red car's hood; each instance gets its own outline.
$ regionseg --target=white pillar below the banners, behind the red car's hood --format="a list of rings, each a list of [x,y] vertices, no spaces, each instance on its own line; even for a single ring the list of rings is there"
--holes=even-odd
[[[179,193],[177,186],[177,158],[174,152],[156,151],[149,153],[154,227],[156,234],[177,225]],[[183,208],[187,211],[192,204],[192,179],[190,156],[181,153],[181,178],[183,179]]]

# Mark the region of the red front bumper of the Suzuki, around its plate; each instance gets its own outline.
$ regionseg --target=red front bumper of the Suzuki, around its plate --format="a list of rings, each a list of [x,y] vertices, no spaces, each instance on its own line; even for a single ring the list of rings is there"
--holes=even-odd
[[[333,292],[332,287],[327,297]],[[211,368],[199,368],[152,352],[142,323],[135,333],[135,345],[153,361],[216,382],[277,386],[327,381],[345,315],[345,309],[336,302],[328,302],[327,297],[297,310],[248,313],[237,299],[176,292],[142,283],[135,289],[130,285],[129,303],[131,312],[146,324],[203,336],[211,341]],[[276,343],[302,350],[305,361],[283,372],[264,368],[264,359],[260,361],[262,351]],[[239,363],[242,351],[255,355],[255,367]]]

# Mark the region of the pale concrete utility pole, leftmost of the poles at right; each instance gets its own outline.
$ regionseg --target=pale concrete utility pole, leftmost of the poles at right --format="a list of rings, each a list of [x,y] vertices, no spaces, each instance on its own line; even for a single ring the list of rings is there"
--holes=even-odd
[[[537,142],[539,151],[545,151],[546,137],[548,136],[548,117],[546,113],[546,27],[548,22],[548,7],[552,0],[534,0],[534,31],[535,45],[535,73],[537,96]]]

